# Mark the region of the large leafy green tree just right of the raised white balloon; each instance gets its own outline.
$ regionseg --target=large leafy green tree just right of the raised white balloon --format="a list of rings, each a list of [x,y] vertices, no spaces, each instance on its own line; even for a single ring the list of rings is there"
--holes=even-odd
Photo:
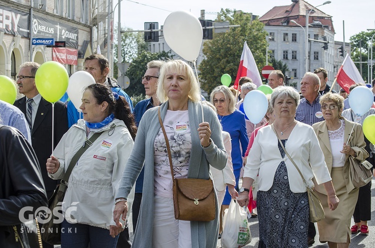
[[[210,92],[217,85],[221,85],[220,77],[228,73],[234,82],[237,74],[243,43],[247,42],[255,62],[260,71],[265,65],[265,37],[264,24],[252,20],[252,15],[242,11],[221,9],[215,21],[229,21],[230,27],[225,33],[213,33],[211,40],[203,43],[205,59],[199,64],[201,88]]]

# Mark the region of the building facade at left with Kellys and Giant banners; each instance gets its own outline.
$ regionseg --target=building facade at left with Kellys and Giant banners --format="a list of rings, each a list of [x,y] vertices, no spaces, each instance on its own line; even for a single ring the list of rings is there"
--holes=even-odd
[[[90,0],[1,0],[0,74],[15,80],[25,61],[58,61],[69,75],[83,69],[91,28]],[[50,39],[64,47],[47,47]]]

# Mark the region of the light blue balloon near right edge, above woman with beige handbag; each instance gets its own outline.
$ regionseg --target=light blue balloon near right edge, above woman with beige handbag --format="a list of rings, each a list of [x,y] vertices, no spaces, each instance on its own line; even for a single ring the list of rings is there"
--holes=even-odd
[[[366,86],[356,86],[350,91],[349,105],[356,115],[361,116],[365,114],[372,106],[372,103],[372,91]]]

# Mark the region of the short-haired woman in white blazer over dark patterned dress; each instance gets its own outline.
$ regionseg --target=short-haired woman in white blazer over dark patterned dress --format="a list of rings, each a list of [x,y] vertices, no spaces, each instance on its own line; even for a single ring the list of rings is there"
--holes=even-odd
[[[306,186],[277,137],[297,164],[308,185],[323,183],[331,210],[338,204],[319,142],[311,126],[294,119],[299,94],[278,86],[271,95],[275,120],[260,128],[245,165],[238,203],[248,203],[248,189],[258,174],[258,247],[307,248],[308,200]],[[311,166],[310,166],[311,165]]]

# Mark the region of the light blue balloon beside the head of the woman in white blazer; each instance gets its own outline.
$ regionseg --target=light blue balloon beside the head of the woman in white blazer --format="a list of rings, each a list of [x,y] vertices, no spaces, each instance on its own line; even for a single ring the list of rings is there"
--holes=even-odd
[[[243,99],[243,109],[247,118],[254,124],[259,123],[263,119],[267,108],[267,97],[258,89],[251,90]]]

